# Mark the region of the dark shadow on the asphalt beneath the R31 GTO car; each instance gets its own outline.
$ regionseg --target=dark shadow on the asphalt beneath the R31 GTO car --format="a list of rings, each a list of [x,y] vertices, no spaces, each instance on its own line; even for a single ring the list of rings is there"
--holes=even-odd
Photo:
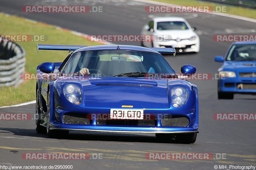
[[[18,129],[18,128],[0,128],[1,137],[15,138],[48,138],[46,134],[36,133],[35,129]],[[133,133],[114,133],[114,132],[84,132],[70,131],[69,135],[62,137],[62,140],[84,140],[84,141],[113,141],[113,142],[143,142],[143,143],[172,143],[178,144],[173,138],[157,138],[155,134],[133,134]]]

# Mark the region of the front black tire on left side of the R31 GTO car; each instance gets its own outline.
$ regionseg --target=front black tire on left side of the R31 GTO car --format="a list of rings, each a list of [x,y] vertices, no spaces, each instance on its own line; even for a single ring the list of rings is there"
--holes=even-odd
[[[49,138],[65,138],[68,136],[68,130],[51,130],[50,129],[50,109],[51,109],[50,92],[47,97],[47,114],[46,114],[46,133]]]

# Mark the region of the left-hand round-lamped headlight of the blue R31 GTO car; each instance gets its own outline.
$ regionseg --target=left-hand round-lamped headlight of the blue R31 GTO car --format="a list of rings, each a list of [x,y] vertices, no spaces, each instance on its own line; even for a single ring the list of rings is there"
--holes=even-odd
[[[68,101],[73,104],[80,105],[82,102],[81,89],[77,85],[65,85],[63,93]]]

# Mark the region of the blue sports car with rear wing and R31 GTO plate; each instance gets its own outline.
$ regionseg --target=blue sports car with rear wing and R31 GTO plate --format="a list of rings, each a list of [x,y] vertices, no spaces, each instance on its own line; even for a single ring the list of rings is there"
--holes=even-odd
[[[65,137],[69,130],[155,133],[194,143],[196,85],[177,77],[161,53],[174,48],[129,45],[38,45],[68,50],[61,63],[37,66],[36,131]],[[192,75],[196,68],[184,65]]]

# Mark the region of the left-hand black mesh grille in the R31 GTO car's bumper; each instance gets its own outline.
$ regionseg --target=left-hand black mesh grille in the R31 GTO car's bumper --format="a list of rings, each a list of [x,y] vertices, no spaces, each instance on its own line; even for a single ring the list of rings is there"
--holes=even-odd
[[[86,115],[68,114],[63,115],[62,120],[66,124],[90,124],[90,120],[86,118]]]

